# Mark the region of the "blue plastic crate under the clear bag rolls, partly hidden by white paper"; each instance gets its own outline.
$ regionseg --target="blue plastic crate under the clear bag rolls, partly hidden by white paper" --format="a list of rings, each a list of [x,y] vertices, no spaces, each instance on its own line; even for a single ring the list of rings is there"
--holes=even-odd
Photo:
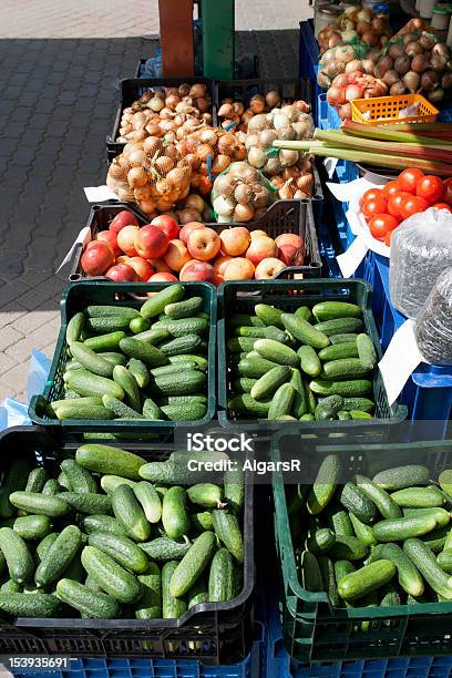
[[[390,302],[389,259],[373,255],[372,264],[373,316],[386,350],[405,317]],[[443,422],[443,431],[438,431],[438,438],[443,438],[452,412],[452,368],[421,363],[408,380],[400,401],[408,405],[413,421]]]

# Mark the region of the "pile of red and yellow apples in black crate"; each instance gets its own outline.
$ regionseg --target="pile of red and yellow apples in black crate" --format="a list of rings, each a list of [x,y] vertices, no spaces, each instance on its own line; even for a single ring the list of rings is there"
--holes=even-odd
[[[287,266],[301,266],[304,258],[304,240],[292,233],[273,239],[264,230],[235,226],[218,235],[201,222],[181,227],[168,215],[140,227],[136,216],[124,209],[86,245],[81,267],[86,276],[117,282],[207,280],[219,285],[274,278]]]

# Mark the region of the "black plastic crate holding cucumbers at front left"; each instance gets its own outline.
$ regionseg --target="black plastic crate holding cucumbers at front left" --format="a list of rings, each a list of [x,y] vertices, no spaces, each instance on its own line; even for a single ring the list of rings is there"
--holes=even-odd
[[[115,444],[109,442],[109,444]],[[165,461],[174,445],[117,443],[148,461]],[[55,469],[73,456],[76,444],[60,444],[33,427],[17,427],[0,434],[0,472],[12,458],[28,455],[38,464]],[[0,655],[69,655],[72,657],[194,658],[203,664],[234,664],[244,659],[253,644],[254,496],[245,484],[244,587],[225,603],[206,603],[188,609],[179,619],[33,619],[10,618],[0,613]]]

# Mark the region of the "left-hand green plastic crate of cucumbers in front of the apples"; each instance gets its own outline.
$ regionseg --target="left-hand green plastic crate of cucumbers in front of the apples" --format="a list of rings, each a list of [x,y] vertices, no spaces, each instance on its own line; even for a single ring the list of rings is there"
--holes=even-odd
[[[83,280],[69,285],[61,298],[61,329],[56,340],[52,366],[44,391],[41,396],[33,396],[30,402],[29,417],[32,422],[44,427],[61,427],[71,432],[117,432],[171,434],[177,427],[201,428],[208,423],[216,413],[215,387],[215,348],[216,348],[216,290],[210,282],[184,282],[186,298],[202,297],[203,310],[209,315],[208,333],[208,405],[207,413],[196,421],[92,421],[92,420],[56,420],[45,413],[45,405],[63,397],[63,374],[68,361],[65,331],[69,320],[78,311],[90,304],[123,305],[140,308],[146,300],[147,291],[160,291],[174,285],[174,282],[110,282],[105,280]]]

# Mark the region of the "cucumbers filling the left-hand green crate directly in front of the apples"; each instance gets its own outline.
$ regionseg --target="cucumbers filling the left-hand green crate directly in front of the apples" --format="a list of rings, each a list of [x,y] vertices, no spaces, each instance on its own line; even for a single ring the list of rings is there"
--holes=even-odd
[[[208,407],[209,317],[173,284],[129,306],[88,306],[66,328],[62,400],[48,414],[80,420],[203,419]]]

